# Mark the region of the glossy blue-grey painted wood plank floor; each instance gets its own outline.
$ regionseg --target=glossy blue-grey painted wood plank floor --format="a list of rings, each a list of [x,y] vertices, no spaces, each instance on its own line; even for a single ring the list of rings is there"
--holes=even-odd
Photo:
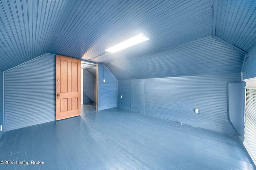
[[[6,132],[1,160],[40,160],[43,165],[0,169],[254,169],[242,142],[204,129],[123,109],[82,115]]]

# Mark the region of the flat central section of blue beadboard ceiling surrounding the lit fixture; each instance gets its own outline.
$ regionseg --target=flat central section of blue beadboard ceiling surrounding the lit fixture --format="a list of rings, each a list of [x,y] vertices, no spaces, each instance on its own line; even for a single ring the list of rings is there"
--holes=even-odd
[[[93,61],[109,63],[211,35],[211,0],[77,1],[58,26],[50,53],[90,59],[143,32],[149,41]],[[70,10],[72,9],[72,10]]]

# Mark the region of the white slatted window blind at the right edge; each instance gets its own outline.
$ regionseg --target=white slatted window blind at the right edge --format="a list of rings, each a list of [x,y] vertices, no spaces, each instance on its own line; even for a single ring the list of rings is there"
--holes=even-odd
[[[256,89],[246,89],[244,145],[256,164]]]

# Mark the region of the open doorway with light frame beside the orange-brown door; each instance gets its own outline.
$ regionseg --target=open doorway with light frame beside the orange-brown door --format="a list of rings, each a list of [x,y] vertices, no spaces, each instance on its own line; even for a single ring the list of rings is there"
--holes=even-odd
[[[98,64],[81,62],[81,104],[98,110]]]

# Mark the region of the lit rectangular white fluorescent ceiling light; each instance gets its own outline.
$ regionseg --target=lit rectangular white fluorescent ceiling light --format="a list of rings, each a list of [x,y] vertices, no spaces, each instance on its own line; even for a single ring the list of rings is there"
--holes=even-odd
[[[114,45],[108,49],[105,49],[105,51],[108,51],[110,53],[116,53],[117,51],[121,51],[123,49],[132,47],[133,45],[136,45],[148,40],[149,38],[146,35],[144,35],[143,33],[139,33],[129,39],[126,39],[125,41],[122,41],[121,43],[118,43],[117,45]]]

